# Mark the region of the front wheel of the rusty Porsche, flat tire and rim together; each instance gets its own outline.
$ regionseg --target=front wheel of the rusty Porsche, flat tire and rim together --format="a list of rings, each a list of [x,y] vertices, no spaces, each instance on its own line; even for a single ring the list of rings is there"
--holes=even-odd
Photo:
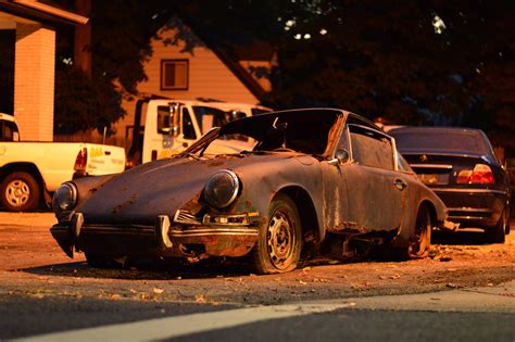
[[[302,250],[302,227],[293,201],[277,194],[268,208],[268,224],[260,229],[253,249],[253,263],[259,274],[281,274],[293,270]]]

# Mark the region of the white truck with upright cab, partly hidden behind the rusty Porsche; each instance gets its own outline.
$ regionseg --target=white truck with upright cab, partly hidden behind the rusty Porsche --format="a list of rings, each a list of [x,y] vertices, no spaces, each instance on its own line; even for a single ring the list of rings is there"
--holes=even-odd
[[[186,150],[211,128],[271,109],[248,103],[143,98],[136,103],[129,165],[169,157]],[[141,125],[145,123],[145,126]],[[238,149],[246,141],[230,140],[218,152]]]

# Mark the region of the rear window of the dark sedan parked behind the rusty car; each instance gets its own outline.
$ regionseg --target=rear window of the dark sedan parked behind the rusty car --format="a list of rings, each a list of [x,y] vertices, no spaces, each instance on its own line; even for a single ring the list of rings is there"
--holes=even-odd
[[[487,154],[481,135],[468,130],[390,131],[401,153],[416,151]]]

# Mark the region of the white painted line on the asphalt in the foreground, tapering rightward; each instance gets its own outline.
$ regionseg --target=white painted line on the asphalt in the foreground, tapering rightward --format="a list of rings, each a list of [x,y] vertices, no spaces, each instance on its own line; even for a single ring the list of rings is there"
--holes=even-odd
[[[16,341],[155,341],[198,332],[233,328],[264,320],[328,313],[353,305],[354,303],[346,301],[335,301],[321,304],[311,303],[246,307],[54,332],[18,339]]]

